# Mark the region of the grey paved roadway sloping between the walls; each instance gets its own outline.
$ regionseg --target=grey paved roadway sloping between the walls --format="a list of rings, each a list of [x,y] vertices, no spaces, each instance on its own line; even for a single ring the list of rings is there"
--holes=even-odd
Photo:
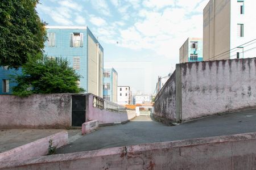
[[[256,109],[203,118],[176,126],[165,126],[152,121],[149,116],[140,116],[127,124],[101,127],[70,145],[57,149],[57,154],[255,131]]]

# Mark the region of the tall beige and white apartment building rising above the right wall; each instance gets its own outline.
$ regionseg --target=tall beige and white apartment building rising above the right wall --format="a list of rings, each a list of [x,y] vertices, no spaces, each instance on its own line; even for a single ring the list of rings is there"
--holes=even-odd
[[[204,8],[204,61],[255,56],[255,0],[210,0]],[[250,42],[251,41],[251,42]]]

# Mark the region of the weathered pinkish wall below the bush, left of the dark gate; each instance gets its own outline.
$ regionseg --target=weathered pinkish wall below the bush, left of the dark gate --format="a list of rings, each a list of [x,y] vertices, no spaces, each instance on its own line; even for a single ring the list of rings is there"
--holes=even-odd
[[[71,94],[0,95],[0,129],[67,128],[71,102]]]

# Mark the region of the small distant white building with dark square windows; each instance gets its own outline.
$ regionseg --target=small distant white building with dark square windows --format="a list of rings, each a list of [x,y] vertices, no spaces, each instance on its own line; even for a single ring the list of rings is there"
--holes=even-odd
[[[117,87],[117,101],[118,101],[118,104],[121,104],[121,105],[131,104],[130,86]]]

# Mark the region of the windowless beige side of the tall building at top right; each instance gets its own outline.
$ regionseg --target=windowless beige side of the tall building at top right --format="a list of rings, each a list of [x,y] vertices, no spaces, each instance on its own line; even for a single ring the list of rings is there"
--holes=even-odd
[[[230,0],[210,0],[204,8],[203,28],[204,61],[229,59],[230,53]],[[218,55],[218,56],[217,56]]]

